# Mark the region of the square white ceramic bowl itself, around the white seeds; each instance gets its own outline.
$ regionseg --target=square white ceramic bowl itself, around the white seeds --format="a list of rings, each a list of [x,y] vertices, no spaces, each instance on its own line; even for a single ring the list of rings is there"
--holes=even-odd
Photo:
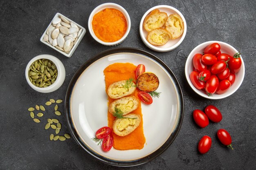
[[[67,53],[64,53],[63,51],[61,51],[61,50],[57,49],[56,47],[52,46],[51,44],[49,44],[48,42],[43,41],[43,38],[44,38],[44,36],[45,36],[45,34],[46,34],[47,29],[49,28],[49,26],[52,25],[52,21],[51,21],[50,24],[47,26],[47,29],[45,30],[45,32],[43,33],[42,37],[40,38],[40,41],[43,42],[44,44],[46,44],[47,46],[51,47],[52,49],[54,49],[54,50],[60,52],[61,54],[65,55],[65,56],[67,56],[67,57],[71,57],[72,54],[74,53],[74,51],[76,50],[76,47],[78,46],[78,44],[79,44],[79,43],[81,42],[81,40],[83,39],[83,36],[85,35],[86,30],[85,30],[85,28],[84,28],[83,26],[81,26],[81,25],[77,24],[76,22],[74,22],[74,21],[68,19],[67,17],[65,17],[65,16],[62,15],[61,13],[56,13],[56,14],[54,15],[54,18],[59,17],[59,16],[65,18],[65,19],[68,20],[69,22],[73,22],[74,24],[76,24],[76,25],[79,27],[79,29],[82,29],[82,30],[83,30],[82,33],[81,33],[81,35],[80,35],[79,38],[77,39],[76,44],[74,44],[74,46],[72,47],[72,49],[70,50],[70,52],[69,52],[68,54],[67,54]],[[53,20],[54,18],[52,18],[52,20]]]

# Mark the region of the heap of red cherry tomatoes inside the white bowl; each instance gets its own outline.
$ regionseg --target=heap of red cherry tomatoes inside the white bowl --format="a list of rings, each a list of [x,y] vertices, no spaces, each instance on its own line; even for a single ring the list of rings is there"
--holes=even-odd
[[[242,65],[240,53],[221,53],[220,44],[213,43],[204,49],[203,55],[197,53],[193,57],[193,71],[190,80],[195,88],[206,91],[207,95],[225,93],[236,80]]]

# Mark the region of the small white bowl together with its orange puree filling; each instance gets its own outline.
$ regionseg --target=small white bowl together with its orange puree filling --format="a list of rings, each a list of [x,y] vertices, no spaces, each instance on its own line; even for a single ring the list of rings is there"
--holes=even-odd
[[[105,3],[89,16],[88,29],[94,40],[106,45],[121,44],[130,31],[130,16],[119,4]]]

